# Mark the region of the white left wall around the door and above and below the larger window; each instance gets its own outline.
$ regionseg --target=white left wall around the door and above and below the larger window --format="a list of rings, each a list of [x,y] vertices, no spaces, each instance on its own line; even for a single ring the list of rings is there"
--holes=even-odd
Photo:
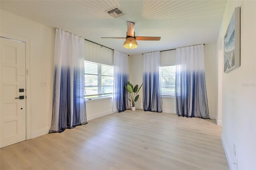
[[[3,32],[30,38],[32,138],[48,133],[52,121],[55,28],[1,10]],[[85,41],[85,59],[113,65],[114,51]],[[41,81],[47,86],[41,87]],[[87,119],[113,113],[113,99],[86,101]],[[100,107],[99,107],[100,106]]]

